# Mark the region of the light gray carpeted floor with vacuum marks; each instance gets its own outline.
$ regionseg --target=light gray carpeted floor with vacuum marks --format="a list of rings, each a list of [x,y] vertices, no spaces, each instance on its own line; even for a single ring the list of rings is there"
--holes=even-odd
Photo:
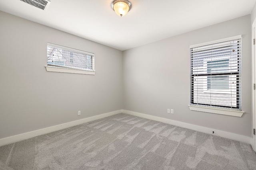
[[[256,170],[250,145],[120,113],[0,147],[1,170]]]

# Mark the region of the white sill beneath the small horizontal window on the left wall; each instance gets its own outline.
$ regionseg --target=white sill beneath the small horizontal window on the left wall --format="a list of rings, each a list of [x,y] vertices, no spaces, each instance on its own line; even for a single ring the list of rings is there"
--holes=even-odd
[[[46,71],[52,71],[52,72],[67,72],[67,73],[91,74],[91,75],[95,74],[95,71],[76,70],[72,68],[63,68],[63,67],[55,67],[55,66],[45,66],[45,68],[46,68]]]

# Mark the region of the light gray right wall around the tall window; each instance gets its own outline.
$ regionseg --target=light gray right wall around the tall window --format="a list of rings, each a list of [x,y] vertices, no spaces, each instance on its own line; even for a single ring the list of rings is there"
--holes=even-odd
[[[247,15],[124,51],[124,109],[251,137],[250,27]],[[189,46],[236,35],[242,35],[244,115],[190,111]]]

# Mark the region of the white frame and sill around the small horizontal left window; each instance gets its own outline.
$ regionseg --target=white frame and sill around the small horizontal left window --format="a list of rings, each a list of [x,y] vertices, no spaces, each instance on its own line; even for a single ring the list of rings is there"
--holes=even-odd
[[[69,59],[70,63],[74,62],[74,57],[72,57],[72,59],[71,59],[71,53],[70,52],[72,52],[73,55],[74,55],[74,53],[81,53],[81,54],[84,54],[84,55],[92,56],[92,59],[91,59],[92,60],[91,61],[92,69],[90,70],[90,69],[78,68],[78,67],[73,67],[73,66],[62,66],[62,65],[57,65],[57,64],[49,64],[48,59],[47,59],[48,57],[46,57],[46,66],[45,66],[46,71],[95,75],[95,69],[94,69],[95,55],[94,55],[94,53],[90,53],[90,52],[82,51],[82,50],[78,50],[78,49],[73,49],[73,48],[70,48],[70,47],[62,46],[62,45],[56,45],[56,44],[53,44],[53,43],[47,43],[47,49],[48,49],[48,46],[68,51],[68,54],[70,55],[70,59]]]

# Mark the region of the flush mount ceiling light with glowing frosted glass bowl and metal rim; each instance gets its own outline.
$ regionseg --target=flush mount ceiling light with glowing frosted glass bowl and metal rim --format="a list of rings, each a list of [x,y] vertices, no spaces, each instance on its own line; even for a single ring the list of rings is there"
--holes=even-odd
[[[128,11],[132,8],[132,4],[128,0],[113,0],[111,3],[112,9],[118,16],[125,16]]]

